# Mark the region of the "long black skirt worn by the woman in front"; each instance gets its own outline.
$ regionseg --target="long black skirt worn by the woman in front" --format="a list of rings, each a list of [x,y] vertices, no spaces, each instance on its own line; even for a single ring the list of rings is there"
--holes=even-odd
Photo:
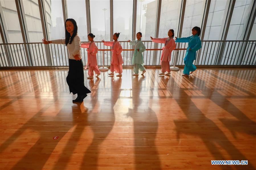
[[[91,93],[91,91],[87,89],[84,84],[82,60],[77,61],[69,59],[69,70],[66,80],[69,86],[69,92],[72,92],[73,95],[85,95],[87,93]]]

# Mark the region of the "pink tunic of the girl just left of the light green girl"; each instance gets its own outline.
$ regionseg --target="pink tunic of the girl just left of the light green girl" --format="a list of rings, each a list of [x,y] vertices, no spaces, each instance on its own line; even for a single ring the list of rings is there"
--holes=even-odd
[[[106,46],[112,47],[113,44],[114,44],[114,41],[105,41],[104,42],[104,45],[106,45]],[[118,65],[118,64],[124,63],[122,54],[121,54],[122,51],[123,51],[122,46],[120,45],[120,43],[118,41],[116,41],[114,44],[114,47],[112,48],[113,55],[112,55],[112,59],[111,59],[111,64]]]

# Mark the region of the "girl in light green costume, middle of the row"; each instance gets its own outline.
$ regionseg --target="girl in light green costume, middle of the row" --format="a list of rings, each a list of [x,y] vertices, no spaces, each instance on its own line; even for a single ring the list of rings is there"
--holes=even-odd
[[[134,76],[139,75],[139,70],[142,71],[141,75],[143,75],[146,72],[146,68],[143,66],[144,59],[142,55],[142,53],[146,50],[146,47],[141,41],[141,37],[142,37],[142,33],[138,32],[136,34],[136,38],[138,40],[136,41],[128,40],[128,42],[130,42],[130,45],[135,45],[134,54],[132,57],[132,64],[134,65],[133,66]]]

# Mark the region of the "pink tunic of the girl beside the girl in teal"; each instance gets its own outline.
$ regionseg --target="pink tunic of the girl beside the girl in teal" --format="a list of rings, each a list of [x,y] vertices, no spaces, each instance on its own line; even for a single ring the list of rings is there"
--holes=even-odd
[[[171,52],[176,48],[176,44],[175,44],[173,37],[171,37],[171,39],[169,39],[169,41],[167,41],[168,38],[169,37],[153,38],[153,40],[152,40],[155,43],[165,43],[164,47],[162,48],[163,52],[161,55],[160,64],[162,63],[162,61],[166,61],[166,62],[171,61]]]

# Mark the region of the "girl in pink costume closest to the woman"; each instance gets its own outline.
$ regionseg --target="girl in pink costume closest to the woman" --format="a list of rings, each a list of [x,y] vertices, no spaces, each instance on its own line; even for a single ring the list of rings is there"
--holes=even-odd
[[[97,56],[96,54],[98,53],[98,47],[93,41],[93,38],[95,35],[93,33],[88,34],[88,40],[91,41],[90,43],[82,43],[81,48],[87,48],[87,64],[85,66],[85,69],[87,69],[87,66],[89,66],[88,70],[88,75],[87,79],[92,79],[93,78],[93,71],[97,74],[96,77],[101,75],[101,71],[98,68],[97,64]]]

